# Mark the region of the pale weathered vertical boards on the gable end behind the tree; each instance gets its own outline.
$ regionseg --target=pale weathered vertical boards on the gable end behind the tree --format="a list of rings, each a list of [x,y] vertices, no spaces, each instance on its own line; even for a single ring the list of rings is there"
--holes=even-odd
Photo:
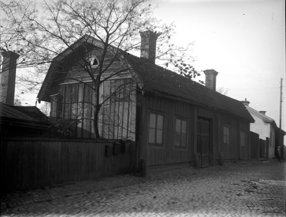
[[[100,103],[105,101],[98,120],[101,138],[135,140],[136,84],[130,82],[128,78],[101,84]],[[91,87],[91,82],[60,85],[62,117],[73,122],[70,127],[73,136],[94,138],[94,91]],[[113,92],[116,93],[110,96]]]

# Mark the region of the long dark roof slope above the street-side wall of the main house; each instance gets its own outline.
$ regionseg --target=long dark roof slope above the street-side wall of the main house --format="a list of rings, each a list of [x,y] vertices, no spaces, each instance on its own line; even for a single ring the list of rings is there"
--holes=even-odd
[[[189,78],[166,70],[156,64],[146,62],[146,60],[137,56],[130,54],[124,54],[124,56],[130,65],[134,66],[133,68],[143,81],[146,91],[153,90],[191,100],[254,122],[253,117],[239,100],[220,94]]]

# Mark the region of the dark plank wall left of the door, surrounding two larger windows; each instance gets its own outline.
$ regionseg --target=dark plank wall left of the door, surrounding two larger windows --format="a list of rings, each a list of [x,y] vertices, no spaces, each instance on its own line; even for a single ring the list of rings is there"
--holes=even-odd
[[[188,103],[178,102],[175,100],[165,99],[162,97],[147,95],[146,111],[161,112],[164,114],[164,136],[163,146],[155,146],[148,144],[148,138],[142,141],[147,145],[147,165],[161,165],[168,163],[180,163],[192,161],[194,149],[194,107]],[[149,122],[149,113],[147,119],[143,121]],[[187,146],[186,148],[178,148],[174,145],[175,124],[177,117],[181,116],[188,120],[187,126]],[[145,124],[144,124],[145,125]],[[149,126],[146,124],[145,126]]]

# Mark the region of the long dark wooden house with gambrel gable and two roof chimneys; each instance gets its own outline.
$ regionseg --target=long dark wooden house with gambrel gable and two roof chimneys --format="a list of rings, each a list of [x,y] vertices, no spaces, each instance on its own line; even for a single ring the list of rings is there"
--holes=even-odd
[[[240,101],[215,91],[218,72],[204,70],[203,86],[166,70],[155,64],[154,33],[147,31],[141,37],[140,58],[124,52],[112,63],[112,69],[129,65],[131,70],[100,86],[100,100],[105,100],[110,90],[124,86],[100,110],[100,137],[134,140],[139,170],[141,162],[146,162],[147,171],[194,165],[195,155],[200,167],[217,165],[220,153],[225,159],[250,159],[249,126],[254,119]],[[100,42],[89,41],[94,47],[93,58],[100,61],[96,48]],[[80,43],[76,45],[77,49],[67,49],[61,56],[72,60],[81,50]],[[91,80],[72,64],[59,66],[57,58],[61,56],[47,72],[39,102],[51,102],[51,117],[74,121],[74,136],[94,137]]]

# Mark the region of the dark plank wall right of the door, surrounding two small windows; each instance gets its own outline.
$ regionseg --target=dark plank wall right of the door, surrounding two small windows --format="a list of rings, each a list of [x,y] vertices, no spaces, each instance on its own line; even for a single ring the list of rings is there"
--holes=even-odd
[[[219,138],[220,151],[224,153],[225,159],[249,159],[249,123],[232,115],[225,113],[219,114]],[[223,126],[230,126],[230,144],[223,143]],[[246,131],[246,147],[241,147],[240,131]]]

